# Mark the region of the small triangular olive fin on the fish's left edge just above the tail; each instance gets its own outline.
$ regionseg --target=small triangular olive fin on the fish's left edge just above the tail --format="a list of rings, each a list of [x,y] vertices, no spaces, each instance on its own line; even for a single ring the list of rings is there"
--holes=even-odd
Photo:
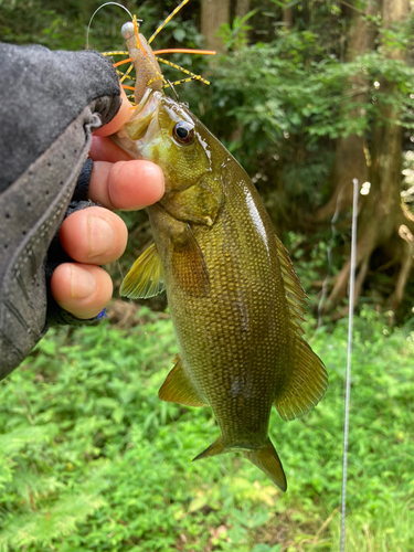
[[[185,406],[208,406],[187,374],[179,357],[177,364],[162,383],[158,396],[169,403],[180,403]]]

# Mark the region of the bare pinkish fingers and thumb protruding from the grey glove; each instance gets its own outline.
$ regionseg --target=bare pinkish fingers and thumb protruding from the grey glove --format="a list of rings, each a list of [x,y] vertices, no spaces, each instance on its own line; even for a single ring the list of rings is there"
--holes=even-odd
[[[63,248],[76,263],[57,266],[51,291],[62,308],[81,319],[95,317],[109,301],[113,283],[99,265],[119,258],[127,245],[126,225],[112,210],[144,209],[163,194],[161,169],[150,161],[131,160],[107,138],[130,119],[130,104],[124,92],[121,97],[118,114],[95,132],[89,151],[94,166],[88,199],[103,206],[76,211],[60,231]]]

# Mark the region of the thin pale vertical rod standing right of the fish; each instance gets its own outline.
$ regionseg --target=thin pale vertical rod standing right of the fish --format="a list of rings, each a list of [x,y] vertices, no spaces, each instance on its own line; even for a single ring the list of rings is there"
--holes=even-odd
[[[353,310],[355,289],[355,267],[357,267],[357,219],[358,219],[358,195],[359,182],[354,178],[352,198],[352,235],[351,235],[351,268],[349,276],[349,320],[348,320],[348,351],[347,351],[347,376],[346,376],[346,404],[344,404],[344,427],[343,427],[343,467],[342,467],[342,505],[341,505],[341,543],[340,552],[344,551],[344,533],[347,517],[347,477],[348,477],[348,440],[349,440],[349,407],[351,395],[351,355],[352,355],[352,332],[353,332]]]

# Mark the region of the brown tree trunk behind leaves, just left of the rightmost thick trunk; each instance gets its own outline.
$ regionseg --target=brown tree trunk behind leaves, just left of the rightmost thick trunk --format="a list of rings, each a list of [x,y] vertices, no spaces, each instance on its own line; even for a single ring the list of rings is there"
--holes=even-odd
[[[368,0],[364,13],[368,15],[376,15],[379,11],[379,0]],[[346,63],[352,62],[355,57],[364,54],[368,50],[372,50],[375,41],[375,26],[372,21],[362,19],[357,11],[352,12],[353,18],[349,31]],[[355,91],[361,91],[353,97],[358,104],[367,102],[368,82],[361,75],[354,75],[349,78],[344,95],[351,96]],[[355,107],[353,113],[348,117],[359,117],[361,108]],[[335,161],[330,173],[330,182],[333,193],[326,205],[317,213],[319,221],[327,216],[332,217],[337,210],[339,194],[341,195],[340,211],[348,209],[352,204],[352,179],[358,178],[360,183],[368,180],[370,158],[364,138],[357,134],[350,135],[347,138],[338,138]]]

